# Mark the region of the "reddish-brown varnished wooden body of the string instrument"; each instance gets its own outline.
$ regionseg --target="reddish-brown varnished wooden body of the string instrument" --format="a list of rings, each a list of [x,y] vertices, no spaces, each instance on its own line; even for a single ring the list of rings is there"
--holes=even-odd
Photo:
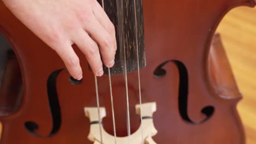
[[[236,110],[241,100],[223,47],[214,32],[223,16],[253,1],[143,1],[146,63],[140,69],[142,103],[156,103],[153,115],[156,143],[245,143],[245,133]],[[24,26],[0,2],[0,32],[13,47],[17,74],[0,97],[3,125],[1,144],[92,143],[90,119],[84,107],[96,107],[94,75],[76,47],[83,68],[82,82],[70,79],[60,57]],[[212,40],[213,39],[213,40]],[[10,64],[11,65],[11,64]],[[223,69],[227,67],[227,69]],[[127,74],[131,133],[139,128],[138,75]],[[11,82],[13,81],[13,82]],[[18,85],[19,86],[16,86]],[[15,91],[22,92],[17,97]],[[100,105],[106,109],[103,128],[113,134],[108,75],[98,78]],[[4,84],[4,83],[3,83]],[[117,136],[127,136],[124,76],[112,75]],[[8,99],[8,100],[6,100]],[[2,103],[2,102],[1,102]],[[108,143],[106,143],[108,144]]]

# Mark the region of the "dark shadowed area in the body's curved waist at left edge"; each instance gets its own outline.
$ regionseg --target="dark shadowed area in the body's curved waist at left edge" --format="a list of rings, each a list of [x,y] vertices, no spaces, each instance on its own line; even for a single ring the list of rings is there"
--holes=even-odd
[[[22,78],[18,59],[0,31],[0,116],[15,113],[22,100]]]

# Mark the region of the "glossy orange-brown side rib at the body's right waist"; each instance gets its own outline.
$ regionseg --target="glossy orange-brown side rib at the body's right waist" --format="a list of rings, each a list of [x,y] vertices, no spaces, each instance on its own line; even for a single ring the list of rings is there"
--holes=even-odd
[[[209,56],[209,73],[214,92],[223,99],[241,99],[235,77],[219,34],[214,35]]]

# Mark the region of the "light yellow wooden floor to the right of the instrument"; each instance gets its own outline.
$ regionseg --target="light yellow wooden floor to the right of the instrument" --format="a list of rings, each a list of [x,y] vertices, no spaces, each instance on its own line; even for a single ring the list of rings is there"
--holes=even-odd
[[[243,99],[237,110],[246,131],[246,143],[256,143],[256,8],[232,9],[217,32],[228,55]]]

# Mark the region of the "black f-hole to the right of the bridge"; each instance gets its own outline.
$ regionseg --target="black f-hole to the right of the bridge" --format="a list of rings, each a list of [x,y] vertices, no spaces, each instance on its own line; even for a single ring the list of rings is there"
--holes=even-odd
[[[206,118],[202,119],[201,122],[195,123],[193,122],[189,116],[188,116],[188,87],[189,87],[189,76],[188,76],[188,70],[185,67],[185,65],[181,61],[166,61],[164,63],[161,63],[154,71],[154,76],[156,78],[162,78],[166,75],[166,70],[163,69],[167,63],[172,62],[176,65],[179,71],[179,97],[178,97],[178,105],[179,105],[179,113],[182,117],[182,119],[186,122],[189,122],[191,124],[201,124],[203,122],[206,122],[209,118],[212,117],[214,113],[214,107],[213,106],[205,106],[201,110],[201,113],[203,113]]]

